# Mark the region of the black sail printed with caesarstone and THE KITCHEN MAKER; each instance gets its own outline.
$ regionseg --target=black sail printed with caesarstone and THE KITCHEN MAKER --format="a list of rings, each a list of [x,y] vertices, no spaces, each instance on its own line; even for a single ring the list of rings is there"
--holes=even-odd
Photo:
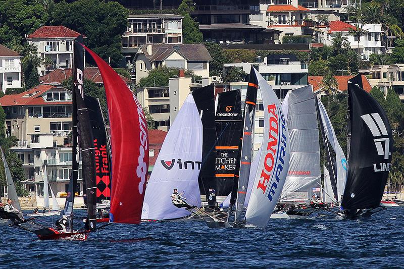
[[[219,93],[216,103],[216,196],[231,193],[242,130],[241,92]]]

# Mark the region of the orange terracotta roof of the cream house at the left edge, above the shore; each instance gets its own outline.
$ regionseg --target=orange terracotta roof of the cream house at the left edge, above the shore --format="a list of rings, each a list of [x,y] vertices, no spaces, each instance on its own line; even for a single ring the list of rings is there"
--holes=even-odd
[[[55,87],[52,85],[39,85],[27,91],[21,92],[19,94],[7,94],[3,96],[2,98],[0,98],[0,105],[11,106],[11,105],[72,104],[72,101],[46,102],[45,99],[43,99],[42,94],[51,89],[64,89],[64,88]]]

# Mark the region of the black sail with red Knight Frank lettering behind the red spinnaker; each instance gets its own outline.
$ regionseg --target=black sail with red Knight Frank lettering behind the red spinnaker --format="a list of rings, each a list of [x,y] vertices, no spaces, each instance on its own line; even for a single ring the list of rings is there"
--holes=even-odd
[[[95,150],[96,203],[111,200],[111,148],[98,99],[84,96],[91,123]]]

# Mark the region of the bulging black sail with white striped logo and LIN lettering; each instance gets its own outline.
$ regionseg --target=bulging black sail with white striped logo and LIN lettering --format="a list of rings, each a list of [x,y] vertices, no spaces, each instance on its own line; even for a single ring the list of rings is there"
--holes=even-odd
[[[341,205],[343,209],[376,208],[391,164],[391,127],[380,104],[351,82],[348,83],[348,117],[351,139]]]

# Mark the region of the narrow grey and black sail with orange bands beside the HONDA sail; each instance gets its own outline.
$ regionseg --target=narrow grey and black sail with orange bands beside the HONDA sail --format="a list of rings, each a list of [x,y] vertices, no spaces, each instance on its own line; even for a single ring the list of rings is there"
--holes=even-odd
[[[228,219],[231,217],[235,205],[235,222],[241,221],[241,212],[244,208],[247,193],[249,172],[252,157],[252,132],[254,130],[254,116],[257,103],[258,80],[255,69],[251,66],[247,93],[244,102],[244,122],[239,141],[239,153],[234,174],[233,190],[231,192]]]

